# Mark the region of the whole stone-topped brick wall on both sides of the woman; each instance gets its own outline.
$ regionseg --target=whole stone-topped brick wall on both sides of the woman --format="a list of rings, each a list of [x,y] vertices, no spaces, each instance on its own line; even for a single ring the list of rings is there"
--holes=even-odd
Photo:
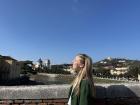
[[[0,105],[67,105],[69,88],[70,85],[1,86]],[[93,102],[140,105],[140,84],[96,84]]]

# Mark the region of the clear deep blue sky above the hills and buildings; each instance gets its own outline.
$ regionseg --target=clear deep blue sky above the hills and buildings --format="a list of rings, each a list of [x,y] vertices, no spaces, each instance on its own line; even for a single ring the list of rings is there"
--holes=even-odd
[[[0,0],[0,54],[70,63],[140,60],[140,0]]]

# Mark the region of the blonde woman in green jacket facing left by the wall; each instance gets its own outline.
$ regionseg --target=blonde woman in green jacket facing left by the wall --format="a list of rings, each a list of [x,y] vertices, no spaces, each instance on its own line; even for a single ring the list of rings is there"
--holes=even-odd
[[[92,77],[92,59],[86,54],[78,54],[72,65],[77,73],[69,92],[68,105],[93,105],[95,96]]]

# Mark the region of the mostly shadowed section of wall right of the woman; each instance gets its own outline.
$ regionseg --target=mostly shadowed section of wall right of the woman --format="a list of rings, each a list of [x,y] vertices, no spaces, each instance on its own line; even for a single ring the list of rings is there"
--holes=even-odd
[[[138,84],[96,86],[97,105],[140,105]]]

